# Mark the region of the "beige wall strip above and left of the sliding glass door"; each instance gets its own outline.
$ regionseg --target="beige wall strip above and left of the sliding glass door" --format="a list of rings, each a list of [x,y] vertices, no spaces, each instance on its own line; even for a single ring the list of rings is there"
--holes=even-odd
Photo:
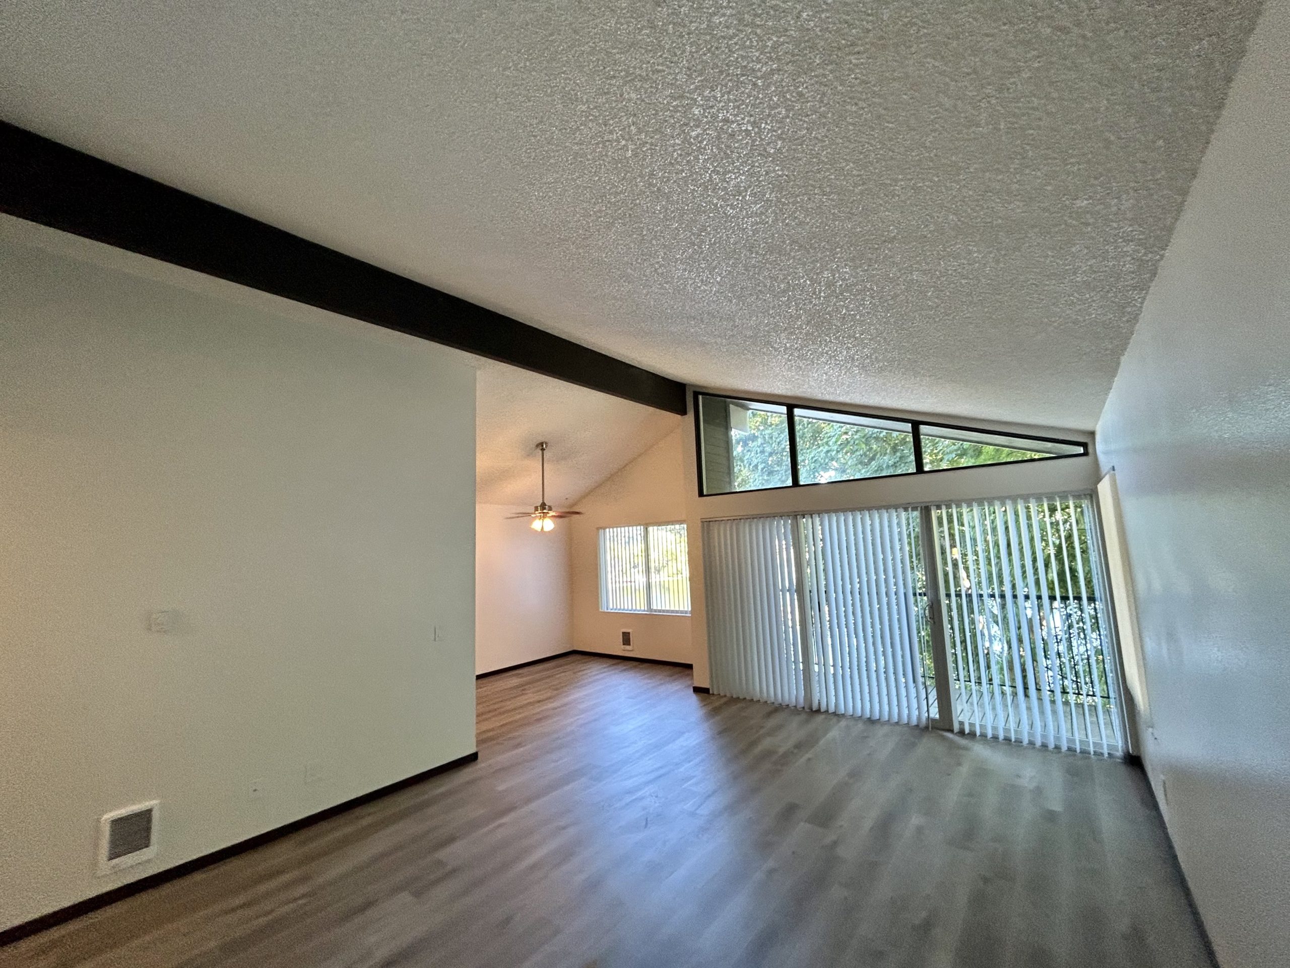
[[[738,394],[734,394],[738,396]],[[784,403],[828,405],[818,400],[779,398]],[[1031,427],[997,421],[977,421],[944,417],[943,414],[897,413],[871,410],[893,417],[913,419],[940,419],[949,423],[968,423],[986,430],[1037,434],[1066,440],[1093,443],[1093,435],[1060,427]],[[1053,494],[1071,490],[1093,490],[1098,484],[1098,461],[1087,457],[1069,457],[1059,461],[1035,461],[998,467],[965,467],[938,474],[920,474],[872,480],[838,481],[805,488],[778,488],[773,490],[747,490],[738,494],[699,497],[698,465],[695,462],[694,419],[681,426],[680,454],[684,466],[685,521],[690,542],[690,603],[693,621],[694,684],[708,685],[707,609],[703,595],[703,541],[704,520],[720,518],[749,518],[757,515],[808,514],[811,511],[838,511],[863,507],[897,507],[902,505],[931,503],[937,501],[974,501],[992,497],[1019,497],[1023,494]]]

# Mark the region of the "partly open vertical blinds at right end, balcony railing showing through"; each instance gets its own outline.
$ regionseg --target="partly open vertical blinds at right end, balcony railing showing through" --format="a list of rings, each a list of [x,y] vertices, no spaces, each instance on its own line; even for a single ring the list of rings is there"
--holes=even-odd
[[[1089,498],[933,514],[956,729],[1120,754],[1115,640]]]

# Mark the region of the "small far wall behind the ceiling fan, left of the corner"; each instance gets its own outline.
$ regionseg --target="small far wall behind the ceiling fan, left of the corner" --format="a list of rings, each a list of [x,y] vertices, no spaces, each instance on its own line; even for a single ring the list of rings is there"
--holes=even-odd
[[[569,527],[538,533],[507,515],[511,505],[475,509],[475,671],[491,672],[573,648]]]

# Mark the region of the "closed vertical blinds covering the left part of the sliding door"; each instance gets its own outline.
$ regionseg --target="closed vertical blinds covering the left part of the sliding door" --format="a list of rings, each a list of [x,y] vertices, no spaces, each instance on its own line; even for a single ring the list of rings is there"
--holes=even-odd
[[[704,521],[712,691],[928,721],[916,511]]]

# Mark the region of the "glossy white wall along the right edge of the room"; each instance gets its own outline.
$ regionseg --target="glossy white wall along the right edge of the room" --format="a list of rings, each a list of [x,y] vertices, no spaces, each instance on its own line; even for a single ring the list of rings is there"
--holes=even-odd
[[[1290,1],[1271,0],[1099,425],[1148,773],[1224,968],[1290,964]]]

